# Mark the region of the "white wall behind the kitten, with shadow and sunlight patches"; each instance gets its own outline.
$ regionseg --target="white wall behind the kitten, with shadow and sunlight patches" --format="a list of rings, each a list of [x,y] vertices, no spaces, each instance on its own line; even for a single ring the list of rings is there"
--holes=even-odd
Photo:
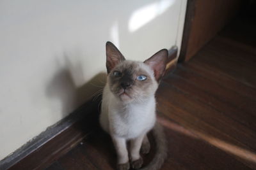
[[[104,85],[105,43],[145,60],[180,46],[186,0],[0,0],[0,160]]]

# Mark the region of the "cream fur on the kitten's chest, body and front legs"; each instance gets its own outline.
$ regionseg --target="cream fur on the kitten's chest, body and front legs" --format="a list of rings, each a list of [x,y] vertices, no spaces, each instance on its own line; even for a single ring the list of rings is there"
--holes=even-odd
[[[143,62],[140,65],[147,68],[145,70],[154,80],[152,69]],[[140,159],[142,139],[154,127],[156,122],[156,100],[154,97],[156,89],[157,81],[154,80],[150,97],[127,103],[126,101],[120,101],[110,91],[108,82],[104,87],[100,125],[104,131],[110,134],[116,145],[118,164],[125,164],[129,161],[125,145],[125,142],[129,139],[133,139],[136,143],[134,148],[131,148],[131,159]]]

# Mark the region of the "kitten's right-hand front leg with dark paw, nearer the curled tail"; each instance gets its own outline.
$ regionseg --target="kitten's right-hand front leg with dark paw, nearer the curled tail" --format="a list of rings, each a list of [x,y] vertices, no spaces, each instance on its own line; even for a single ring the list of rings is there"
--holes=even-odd
[[[145,134],[131,140],[131,166],[134,169],[139,169],[143,164],[143,159],[140,157],[140,148]]]

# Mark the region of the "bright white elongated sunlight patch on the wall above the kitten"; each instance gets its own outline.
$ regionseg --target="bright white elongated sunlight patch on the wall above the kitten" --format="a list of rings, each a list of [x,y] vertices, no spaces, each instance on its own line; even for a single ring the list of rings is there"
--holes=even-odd
[[[129,19],[129,31],[134,32],[140,29],[140,27],[164,13],[173,3],[174,0],[161,0],[134,11]]]

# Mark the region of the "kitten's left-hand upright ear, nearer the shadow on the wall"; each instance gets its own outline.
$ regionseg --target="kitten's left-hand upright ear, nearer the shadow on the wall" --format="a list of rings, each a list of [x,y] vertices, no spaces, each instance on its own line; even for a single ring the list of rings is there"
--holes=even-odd
[[[108,73],[113,69],[117,64],[124,61],[124,55],[116,48],[115,45],[111,42],[106,43],[106,67]]]

